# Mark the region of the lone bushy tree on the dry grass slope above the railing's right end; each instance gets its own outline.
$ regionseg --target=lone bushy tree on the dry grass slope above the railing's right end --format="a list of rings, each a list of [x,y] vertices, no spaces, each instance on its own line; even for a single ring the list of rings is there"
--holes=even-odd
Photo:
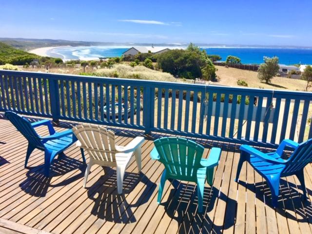
[[[263,57],[263,60],[264,63],[258,69],[258,79],[268,84],[279,70],[278,57]]]

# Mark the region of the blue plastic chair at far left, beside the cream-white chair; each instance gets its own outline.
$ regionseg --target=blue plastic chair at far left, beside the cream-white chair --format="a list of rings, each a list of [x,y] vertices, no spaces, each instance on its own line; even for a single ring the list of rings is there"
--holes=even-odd
[[[5,117],[7,117],[11,123],[17,128],[17,130],[28,140],[28,148],[25,159],[25,167],[27,166],[28,158],[30,154],[39,149],[44,151],[44,175],[49,176],[49,169],[53,159],[59,155],[61,158],[64,155],[64,150],[70,147],[77,141],[76,136],[72,130],[57,133],[50,120],[44,119],[34,123],[31,123],[25,117],[18,115],[13,111],[6,111]],[[46,125],[48,127],[50,136],[40,137],[34,128]],[[81,150],[82,159],[85,163],[85,157],[83,150]]]

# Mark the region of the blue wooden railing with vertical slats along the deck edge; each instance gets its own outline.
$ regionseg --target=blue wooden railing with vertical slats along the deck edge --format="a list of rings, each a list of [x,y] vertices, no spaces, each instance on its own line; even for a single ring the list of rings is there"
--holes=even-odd
[[[0,70],[0,111],[267,147],[312,137],[311,101],[310,92]]]

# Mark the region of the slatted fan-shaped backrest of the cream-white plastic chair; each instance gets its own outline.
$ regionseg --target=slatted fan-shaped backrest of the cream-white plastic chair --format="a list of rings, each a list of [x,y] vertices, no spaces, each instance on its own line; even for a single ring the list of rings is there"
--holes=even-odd
[[[115,134],[95,124],[80,124],[73,128],[75,136],[91,157],[96,160],[116,162]]]

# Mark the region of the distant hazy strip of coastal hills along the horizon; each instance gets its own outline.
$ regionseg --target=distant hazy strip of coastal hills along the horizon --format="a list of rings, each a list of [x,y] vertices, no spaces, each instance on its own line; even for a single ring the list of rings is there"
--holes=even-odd
[[[130,43],[130,42],[99,42],[99,41],[72,41],[72,40],[55,40],[55,39],[25,39],[25,38],[0,38],[0,42],[4,42],[16,49],[29,51],[40,47],[51,46],[151,46],[150,43]],[[188,43],[154,43],[154,46],[178,46],[186,47]],[[198,43],[199,47],[237,47],[237,48],[293,48],[293,49],[307,49],[312,47],[296,46],[296,45],[244,45],[244,44],[217,44],[217,43]]]

